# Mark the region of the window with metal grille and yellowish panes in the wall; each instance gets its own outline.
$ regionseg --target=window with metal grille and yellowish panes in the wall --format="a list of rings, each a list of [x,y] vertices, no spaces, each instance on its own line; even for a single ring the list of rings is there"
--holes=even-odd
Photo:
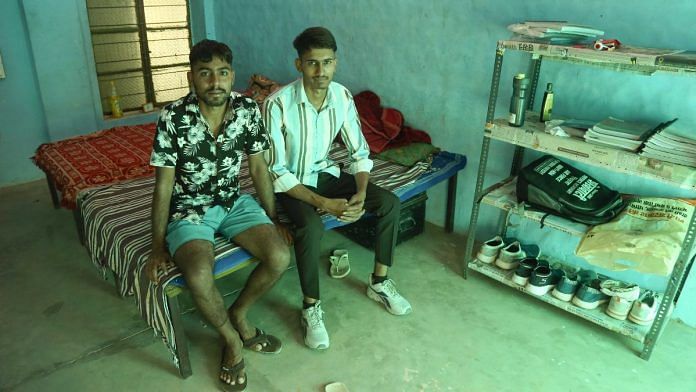
[[[162,106],[189,91],[188,0],[86,0],[105,115],[111,82],[121,109]]]

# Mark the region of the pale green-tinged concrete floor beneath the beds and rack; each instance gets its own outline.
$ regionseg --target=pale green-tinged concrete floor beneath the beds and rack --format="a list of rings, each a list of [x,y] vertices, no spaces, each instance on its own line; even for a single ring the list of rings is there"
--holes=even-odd
[[[53,209],[44,182],[0,189],[0,221],[0,390],[218,390],[214,331],[197,313],[184,316],[194,373],[179,378],[132,298],[118,298],[92,266],[72,215]],[[391,276],[414,313],[396,317],[364,295],[371,253],[329,233],[326,253],[348,248],[353,269],[322,280],[331,348],[302,343],[292,269],[251,314],[284,348],[246,355],[247,390],[321,391],[332,381],[352,392],[696,390],[693,328],[671,322],[643,361],[637,342],[475,272],[464,280],[463,243],[427,225],[397,248]],[[221,289],[233,290],[249,270]]]

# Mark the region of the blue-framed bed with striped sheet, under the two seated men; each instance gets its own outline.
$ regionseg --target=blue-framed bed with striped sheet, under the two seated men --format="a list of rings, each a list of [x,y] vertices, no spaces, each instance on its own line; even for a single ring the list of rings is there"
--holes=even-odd
[[[345,147],[339,144],[333,146],[331,157],[344,167],[348,164]],[[466,157],[449,152],[440,152],[430,161],[412,167],[375,160],[371,178],[402,201],[448,180],[446,228],[452,231],[457,174],[465,165]],[[242,192],[253,194],[246,160],[240,185]],[[188,377],[192,371],[177,299],[185,282],[174,266],[160,277],[157,285],[143,273],[150,251],[149,214],[153,189],[152,176],[92,188],[80,193],[78,210],[92,262],[105,276],[113,273],[120,295],[135,296],[141,316],[162,336],[182,377]],[[322,219],[327,230],[342,225],[329,215]],[[216,238],[215,258],[216,279],[254,262],[246,251],[221,237]]]

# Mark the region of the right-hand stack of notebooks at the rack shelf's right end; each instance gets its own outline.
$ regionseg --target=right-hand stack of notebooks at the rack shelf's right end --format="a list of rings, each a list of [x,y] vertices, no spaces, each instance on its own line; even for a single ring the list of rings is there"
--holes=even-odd
[[[648,138],[640,155],[696,167],[696,132],[677,129],[670,123]]]

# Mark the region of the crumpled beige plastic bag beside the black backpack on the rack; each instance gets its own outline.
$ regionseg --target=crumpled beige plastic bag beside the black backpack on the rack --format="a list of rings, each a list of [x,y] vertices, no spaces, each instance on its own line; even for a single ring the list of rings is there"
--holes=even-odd
[[[633,199],[612,221],[592,227],[576,254],[613,271],[667,276],[682,250],[694,209],[696,199]]]

